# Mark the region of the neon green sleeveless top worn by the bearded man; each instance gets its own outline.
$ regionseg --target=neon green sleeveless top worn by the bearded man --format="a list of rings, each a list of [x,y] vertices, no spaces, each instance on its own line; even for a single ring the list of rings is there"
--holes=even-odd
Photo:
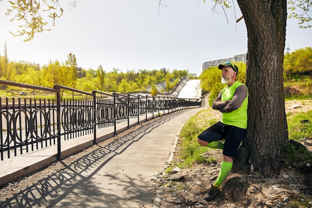
[[[221,101],[232,100],[236,88],[244,85],[236,81],[230,87],[226,87],[221,91]],[[223,112],[221,122],[227,125],[237,126],[239,128],[247,128],[247,106],[248,106],[248,92],[247,97],[243,101],[242,105],[232,112]]]

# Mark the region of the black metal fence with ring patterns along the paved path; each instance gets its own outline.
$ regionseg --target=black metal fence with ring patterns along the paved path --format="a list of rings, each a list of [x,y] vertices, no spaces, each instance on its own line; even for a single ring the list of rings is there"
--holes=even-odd
[[[56,99],[0,98],[0,156],[1,160],[18,156],[51,145],[57,145],[58,159],[61,144],[87,134],[93,134],[97,143],[98,129],[138,119],[148,114],[165,114],[179,109],[200,106],[200,102],[178,100],[166,97],[142,95],[92,93],[54,85],[45,88],[0,80],[0,85],[44,91]],[[78,93],[85,100],[62,100],[62,92]]]

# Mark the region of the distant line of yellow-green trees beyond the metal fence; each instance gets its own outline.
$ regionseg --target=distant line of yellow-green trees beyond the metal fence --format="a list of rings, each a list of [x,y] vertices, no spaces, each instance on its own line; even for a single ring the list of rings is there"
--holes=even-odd
[[[70,53],[64,62],[50,60],[47,65],[29,63],[25,61],[13,62],[7,57],[6,44],[4,54],[0,54],[0,79],[18,83],[53,87],[55,84],[91,92],[99,90],[102,92],[130,93],[146,91],[152,86],[152,91],[157,94],[157,83],[166,82],[166,91],[172,90],[183,77],[196,79],[196,74],[187,70],[127,70],[112,69],[106,72],[100,65],[98,69],[82,69],[77,72],[77,60]]]

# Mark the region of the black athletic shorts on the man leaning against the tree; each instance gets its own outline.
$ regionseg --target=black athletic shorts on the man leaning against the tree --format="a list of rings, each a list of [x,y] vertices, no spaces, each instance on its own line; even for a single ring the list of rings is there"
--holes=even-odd
[[[198,138],[208,143],[225,138],[222,154],[229,157],[236,157],[237,148],[246,135],[246,132],[247,129],[227,125],[219,121],[202,132]]]

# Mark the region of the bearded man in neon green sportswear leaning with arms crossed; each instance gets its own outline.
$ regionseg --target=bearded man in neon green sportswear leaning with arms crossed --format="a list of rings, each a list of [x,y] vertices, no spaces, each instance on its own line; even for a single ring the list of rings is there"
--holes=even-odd
[[[227,62],[218,66],[222,70],[221,83],[228,84],[213,101],[212,108],[222,112],[222,120],[202,132],[197,142],[202,146],[222,149],[223,162],[216,181],[211,185],[204,200],[213,200],[219,187],[230,173],[237,148],[246,134],[248,89],[237,81],[238,67]],[[224,139],[224,144],[219,140]]]

